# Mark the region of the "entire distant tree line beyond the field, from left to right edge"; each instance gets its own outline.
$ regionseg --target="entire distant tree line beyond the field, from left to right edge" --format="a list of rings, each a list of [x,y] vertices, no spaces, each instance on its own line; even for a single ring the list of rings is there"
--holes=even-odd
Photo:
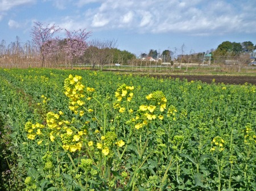
[[[20,43],[16,36],[14,42],[6,45],[5,40],[0,43],[0,67],[65,67],[73,69],[74,66],[89,65],[92,68],[98,66],[101,69],[105,65],[136,65],[151,66],[168,63],[180,65],[181,63],[202,63],[225,65],[233,63],[241,70],[249,63],[250,56],[255,56],[256,45],[251,41],[243,43],[231,43],[224,41],[217,49],[208,52],[195,53],[191,50],[185,53],[185,45],[181,46],[179,54],[177,48],[163,52],[150,49],[148,53],[136,56],[126,50],[117,48],[117,41],[113,40],[88,40],[91,32],[86,29],[78,31],[65,30],[63,38],[57,33],[63,29],[49,24],[35,22],[31,29],[31,41]],[[210,55],[210,56],[209,56]]]

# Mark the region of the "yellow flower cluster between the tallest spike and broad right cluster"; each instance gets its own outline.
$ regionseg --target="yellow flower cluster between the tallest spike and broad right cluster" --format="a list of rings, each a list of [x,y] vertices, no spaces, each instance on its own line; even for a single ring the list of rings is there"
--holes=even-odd
[[[117,100],[114,103],[114,108],[119,109],[119,113],[125,112],[125,107],[122,105],[122,101],[131,101],[133,99],[133,86],[126,86],[126,84],[122,84],[122,86],[117,88],[117,91],[115,92],[115,97]],[[133,112],[133,111],[129,111]]]

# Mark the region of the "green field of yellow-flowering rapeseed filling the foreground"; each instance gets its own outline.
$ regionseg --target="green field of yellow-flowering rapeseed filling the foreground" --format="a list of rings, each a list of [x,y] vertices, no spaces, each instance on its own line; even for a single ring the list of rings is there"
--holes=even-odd
[[[256,87],[0,70],[1,190],[256,190]]]

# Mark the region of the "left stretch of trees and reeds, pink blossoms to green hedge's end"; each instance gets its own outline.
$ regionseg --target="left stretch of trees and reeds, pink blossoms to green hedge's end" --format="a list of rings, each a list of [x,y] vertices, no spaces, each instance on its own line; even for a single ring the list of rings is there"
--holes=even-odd
[[[135,55],[119,50],[115,40],[91,40],[86,29],[68,31],[65,37],[57,36],[63,29],[35,22],[31,30],[31,41],[21,43],[18,36],[9,45],[0,43],[1,67],[65,67],[80,65],[100,66],[120,63],[126,65]]]

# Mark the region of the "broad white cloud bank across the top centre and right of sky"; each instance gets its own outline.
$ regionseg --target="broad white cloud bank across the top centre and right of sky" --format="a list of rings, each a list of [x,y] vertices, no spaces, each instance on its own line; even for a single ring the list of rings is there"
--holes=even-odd
[[[76,6],[83,14],[72,22],[65,20],[69,28],[126,28],[142,33],[191,35],[256,32],[256,2],[250,0],[80,0]]]

